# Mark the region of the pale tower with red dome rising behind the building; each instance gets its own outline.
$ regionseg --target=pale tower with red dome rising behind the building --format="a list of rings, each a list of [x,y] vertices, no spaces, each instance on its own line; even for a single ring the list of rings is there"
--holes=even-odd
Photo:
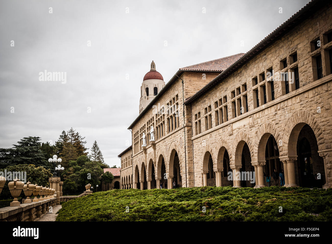
[[[156,64],[151,63],[150,71],[144,75],[139,99],[139,113],[141,113],[158,92],[165,86],[163,76],[156,70]]]

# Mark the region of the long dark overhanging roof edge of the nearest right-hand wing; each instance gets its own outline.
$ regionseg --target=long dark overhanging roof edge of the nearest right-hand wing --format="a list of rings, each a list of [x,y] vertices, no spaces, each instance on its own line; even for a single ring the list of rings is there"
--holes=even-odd
[[[306,19],[310,14],[314,13],[316,9],[326,6],[328,4],[327,0],[312,0],[306,4],[303,8],[293,14],[287,21],[280,25],[276,30],[274,30],[270,35],[265,37],[256,46],[251,48],[246,54],[244,54],[240,59],[230,65],[225,71],[211,80],[206,86],[195,93],[192,97],[185,101],[185,104],[189,104],[202,96],[210,88],[214,87],[216,84],[220,83],[228,75],[232,74],[235,70],[243,66],[246,62],[256,56],[258,53],[263,51],[269,44],[276,41],[282,35],[290,31],[295,25],[299,24],[301,21]]]

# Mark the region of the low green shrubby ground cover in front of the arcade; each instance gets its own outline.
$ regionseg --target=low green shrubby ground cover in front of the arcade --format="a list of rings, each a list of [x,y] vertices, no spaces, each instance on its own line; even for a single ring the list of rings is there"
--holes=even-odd
[[[56,220],[331,221],[332,189],[195,187],[111,190],[63,203]]]

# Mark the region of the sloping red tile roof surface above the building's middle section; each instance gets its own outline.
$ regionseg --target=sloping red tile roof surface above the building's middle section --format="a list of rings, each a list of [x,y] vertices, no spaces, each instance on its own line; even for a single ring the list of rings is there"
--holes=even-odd
[[[190,65],[180,68],[179,70],[195,70],[195,71],[224,71],[233,63],[235,63],[244,53],[234,54],[228,57],[218,58],[211,61]]]

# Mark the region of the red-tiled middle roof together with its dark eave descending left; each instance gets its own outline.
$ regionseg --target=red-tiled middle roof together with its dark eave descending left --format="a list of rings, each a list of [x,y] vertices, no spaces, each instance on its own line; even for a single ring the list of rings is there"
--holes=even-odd
[[[151,100],[151,102],[145,107],[145,109],[137,116],[128,129],[132,126],[148,111],[153,104],[167,91],[167,89],[175,82],[175,80],[182,75],[183,72],[222,72],[223,69],[229,67],[232,63],[242,57],[244,53],[234,54],[228,57],[218,58],[203,63],[194,64],[191,66],[180,68],[169,82],[158,92],[158,94]]]

